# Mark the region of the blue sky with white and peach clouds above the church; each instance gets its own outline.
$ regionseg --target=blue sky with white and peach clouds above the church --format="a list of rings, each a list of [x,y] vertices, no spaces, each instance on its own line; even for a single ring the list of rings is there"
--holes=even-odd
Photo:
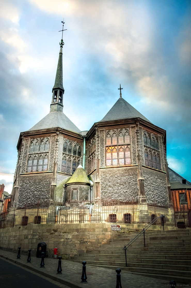
[[[167,131],[167,160],[191,181],[191,2],[1,0],[0,184],[11,193],[19,134],[49,113],[59,41],[64,113],[80,130],[122,97]],[[10,173],[10,174],[8,174]]]

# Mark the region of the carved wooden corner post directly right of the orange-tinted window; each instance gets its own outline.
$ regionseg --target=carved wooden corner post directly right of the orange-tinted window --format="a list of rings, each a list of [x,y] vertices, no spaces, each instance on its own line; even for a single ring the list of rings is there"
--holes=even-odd
[[[139,202],[146,202],[144,193],[144,177],[142,173],[142,161],[140,154],[140,137],[139,137],[139,121],[136,122],[136,140],[137,140],[137,164],[138,164],[138,183],[139,183]]]

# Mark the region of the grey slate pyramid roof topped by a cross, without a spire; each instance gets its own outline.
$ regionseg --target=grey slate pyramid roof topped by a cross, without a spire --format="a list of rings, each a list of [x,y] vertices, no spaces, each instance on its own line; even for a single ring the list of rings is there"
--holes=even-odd
[[[117,102],[113,105],[109,112],[107,112],[107,114],[99,122],[127,118],[141,118],[147,122],[150,122],[146,117],[144,117],[139,111],[137,111],[122,97],[117,100]]]

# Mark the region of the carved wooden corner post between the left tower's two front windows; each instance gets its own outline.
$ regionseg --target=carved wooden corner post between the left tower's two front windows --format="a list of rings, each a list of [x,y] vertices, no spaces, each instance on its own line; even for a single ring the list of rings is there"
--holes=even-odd
[[[59,130],[56,130],[55,150],[54,150],[54,160],[53,160],[53,175],[52,175],[52,184],[51,184],[51,201],[55,200],[56,176],[57,176],[57,168],[58,168],[58,144],[59,144]]]

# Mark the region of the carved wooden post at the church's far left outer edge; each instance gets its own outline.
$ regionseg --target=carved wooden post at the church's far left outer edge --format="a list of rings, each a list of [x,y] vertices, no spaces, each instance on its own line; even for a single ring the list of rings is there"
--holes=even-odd
[[[24,137],[22,136],[22,142],[20,151],[18,151],[18,163],[14,177],[13,190],[11,196],[11,208],[15,208],[17,206],[17,197],[20,183],[20,173],[22,169],[22,158],[23,158],[23,150],[24,150]]]

